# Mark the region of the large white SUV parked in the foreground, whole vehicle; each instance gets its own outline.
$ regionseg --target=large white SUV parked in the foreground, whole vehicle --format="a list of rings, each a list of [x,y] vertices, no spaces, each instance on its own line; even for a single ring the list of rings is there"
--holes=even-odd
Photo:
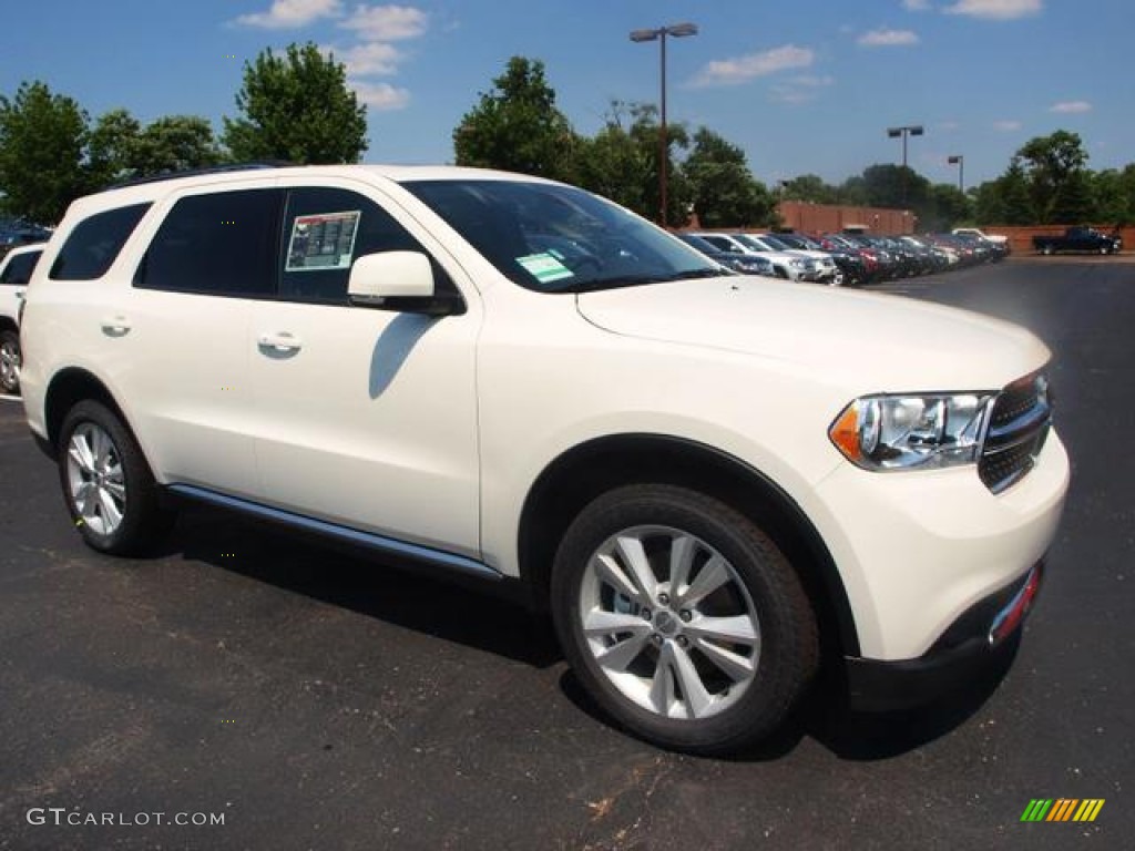
[[[90,546],[195,499],[523,589],[669,748],[768,735],[822,664],[883,707],[995,663],[1068,483],[1026,331],[743,277],[532,177],[117,188],[28,293],[27,416]]]

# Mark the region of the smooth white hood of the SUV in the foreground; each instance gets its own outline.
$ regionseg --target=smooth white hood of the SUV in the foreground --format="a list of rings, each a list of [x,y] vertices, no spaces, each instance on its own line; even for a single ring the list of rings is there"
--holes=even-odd
[[[583,293],[613,334],[823,371],[861,393],[993,390],[1044,365],[1015,325],[896,295],[735,277]]]

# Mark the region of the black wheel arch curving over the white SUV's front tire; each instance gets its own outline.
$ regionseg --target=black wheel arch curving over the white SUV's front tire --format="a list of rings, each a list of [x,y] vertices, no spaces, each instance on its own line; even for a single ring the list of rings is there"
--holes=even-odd
[[[818,621],[824,655],[858,655],[858,632],[843,581],[800,506],[745,462],[676,437],[597,438],[563,453],[541,472],[524,500],[518,534],[520,575],[536,606],[548,605],[552,563],[571,521],[598,495],[633,482],[684,486],[751,517],[800,576]]]

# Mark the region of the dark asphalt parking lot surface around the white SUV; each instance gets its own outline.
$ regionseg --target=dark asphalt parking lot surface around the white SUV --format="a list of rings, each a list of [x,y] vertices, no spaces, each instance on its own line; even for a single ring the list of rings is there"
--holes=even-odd
[[[1073,489],[1008,675],[899,716],[821,693],[731,760],[620,733],[548,623],[412,571],[204,511],[95,555],[0,401],[0,849],[1130,846],[1135,268],[1050,261],[878,287],[1053,349]],[[1104,804],[1022,823],[1061,798]]]

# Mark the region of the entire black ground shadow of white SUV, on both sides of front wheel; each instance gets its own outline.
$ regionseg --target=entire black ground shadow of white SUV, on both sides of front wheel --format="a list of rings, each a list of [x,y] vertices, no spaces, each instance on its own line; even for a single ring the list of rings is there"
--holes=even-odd
[[[241,551],[244,557],[239,561],[224,557],[233,551]],[[311,541],[211,508],[183,508],[175,533],[157,555],[210,564],[535,668],[548,668],[563,659],[550,618],[537,617],[493,584],[462,581],[449,574],[438,578],[423,573],[421,565],[411,562],[361,557],[325,541]],[[471,603],[470,595],[476,595],[476,603]],[[847,706],[846,685],[840,677],[824,676],[779,733],[724,759],[774,761],[790,755],[805,739],[851,761],[875,761],[907,753],[949,734],[981,710],[1016,656],[1018,642],[1014,641],[1000,666],[974,677],[964,691],[951,692],[916,710],[854,711]],[[597,723],[619,726],[591,700],[571,669],[561,675],[560,689]]]

